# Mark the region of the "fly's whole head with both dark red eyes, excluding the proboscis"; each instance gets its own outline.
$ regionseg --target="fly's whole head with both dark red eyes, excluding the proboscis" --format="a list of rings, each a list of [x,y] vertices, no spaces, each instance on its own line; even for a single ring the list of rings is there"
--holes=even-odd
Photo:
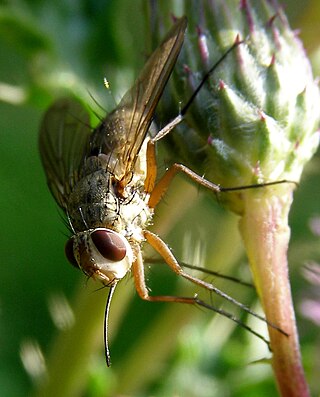
[[[75,234],[68,240],[65,253],[73,266],[105,285],[121,280],[135,259],[128,240],[120,233],[106,228]]]

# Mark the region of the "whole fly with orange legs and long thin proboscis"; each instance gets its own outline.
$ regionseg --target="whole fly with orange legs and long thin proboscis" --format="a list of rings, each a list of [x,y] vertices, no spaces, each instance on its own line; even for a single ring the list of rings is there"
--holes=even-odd
[[[156,182],[155,143],[181,122],[212,70],[240,44],[236,41],[205,75],[180,115],[151,138],[148,130],[181,50],[186,27],[185,17],[176,21],[148,59],[133,87],[93,131],[89,127],[88,112],[79,102],[71,99],[55,102],[46,112],[41,125],[39,146],[47,183],[55,200],[66,213],[73,234],[65,247],[66,256],[88,277],[110,287],[104,327],[108,366],[107,328],[111,297],[117,283],[129,271],[132,271],[136,290],[142,299],[207,307],[240,323],[265,340],[231,314],[209,306],[196,296],[151,296],[146,286],[141,252],[141,245],[145,241],[176,274],[266,321],[212,284],[185,272],[166,243],[147,230],[155,207],[178,172],[215,193],[243,188],[221,188],[182,164],[171,166]]]

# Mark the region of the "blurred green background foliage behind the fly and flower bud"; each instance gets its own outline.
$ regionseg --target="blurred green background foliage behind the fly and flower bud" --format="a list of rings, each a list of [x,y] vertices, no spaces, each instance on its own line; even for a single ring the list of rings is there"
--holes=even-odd
[[[107,369],[103,355],[107,291],[87,282],[64,257],[67,231],[45,184],[37,149],[39,123],[47,106],[66,93],[86,99],[93,108],[90,94],[107,110],[115,106],[149,51],[146,5],[143,0],[0,3],[1,396],[275,392],[269,366],[251,364],[268,356],[262,342],[211,312],[143,302],[130,277],[119,286],[111,307],[113,365]],[[287,0],[285,5],[292,27],[301,30],[314,74],[319,75],[320,5],[316,0]],[[172,12],[178,9],[179,1]],[[103,86],[104,77],[111,93]],[[166,156],[160,144],[160,170]],[[318,311],[320,305],[319,296],[313,295],[315,285],[303,276],[304,264],[320,260],[319,178],[316,155],[295,194],[289,252],[303,361],[314,395],[320,391],[319,323],[306,318],[302,308],[311,297],[318,298]],[[178,258],[250,279],[237,218],[182,178],[159,207],[153,230]],[[152,265],[148,280],[155,294],[191,296],[196,291],[164,266]],[[213,281],[259,310],[250,289]],[[204,297],[221,304],[215,297]],[[265,332],[263,324],[237,315]],[[45,379],[51,383],[44,390]]]

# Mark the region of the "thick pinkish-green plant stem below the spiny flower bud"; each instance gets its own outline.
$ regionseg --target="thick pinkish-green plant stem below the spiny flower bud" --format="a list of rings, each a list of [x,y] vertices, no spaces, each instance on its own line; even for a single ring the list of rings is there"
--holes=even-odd
[[[300,347],[288,277],[290,238],[288,214],[292,186],[247,191],[240,231],[266,318],[289,336],[269,327],[272,366],[281,396],[307,397],[308,386],[301,364]]]

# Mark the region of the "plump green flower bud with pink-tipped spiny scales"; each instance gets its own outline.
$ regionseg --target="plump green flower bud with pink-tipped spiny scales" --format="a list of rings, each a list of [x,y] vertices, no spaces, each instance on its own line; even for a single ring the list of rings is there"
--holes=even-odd
[[[269,1],[184,4],[189,29],[174,77],[176,99],[187,100],[234,42],[244,42],[213,71],[186,114],[187,125],[172,134],[175,151],[224,187],[298,182],[318,147],[320,95],[282,10]]]

